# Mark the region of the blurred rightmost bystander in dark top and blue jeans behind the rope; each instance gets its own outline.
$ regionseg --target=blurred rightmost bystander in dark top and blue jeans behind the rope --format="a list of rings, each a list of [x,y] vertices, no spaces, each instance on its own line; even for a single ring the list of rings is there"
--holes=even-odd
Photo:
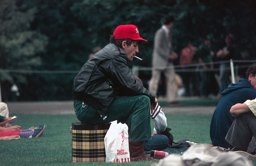
[[[234,58],[235,48],[233,45],[234,37],[232,34],[228,34],[225,38],[226,46],[223,49],[220,49],[216,56],[220,59],[220,61],[227,61]],[[220,89],[218,97],[222,97],[221,93],[225,89],[227,89],[230,84],[229,80],[230,67],[229,63],[221,63],[220,64]]]

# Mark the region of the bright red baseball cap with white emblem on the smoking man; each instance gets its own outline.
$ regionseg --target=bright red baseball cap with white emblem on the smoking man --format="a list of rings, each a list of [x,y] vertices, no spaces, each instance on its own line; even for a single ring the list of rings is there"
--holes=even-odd
[[[140,38],[139,30],[134,25],[121,25],[116,27],[114,31],[114,38],[117,39],[131,39],[131,40],[142,40],[147,41],[145,39]]]

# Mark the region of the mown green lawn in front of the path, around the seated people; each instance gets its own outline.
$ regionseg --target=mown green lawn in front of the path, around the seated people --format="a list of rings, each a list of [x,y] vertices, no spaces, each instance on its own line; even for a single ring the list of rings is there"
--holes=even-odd
[[[27,115],[18,114],[13,125],[22,129],[46,124],[44,134],[38,138],[0,140],[1,166],[150,166],[152,162],[131,163],[73,163],[71,160],[71,123],[78,121],[75,115]],[[168,127],[172,128],[174,141],[188,139],[196,143],[211,144],[209,126],[211,115],[166,114]],[[153,123],[152,129],[153,129]],[[255,164],[256,165],[256,164]]]

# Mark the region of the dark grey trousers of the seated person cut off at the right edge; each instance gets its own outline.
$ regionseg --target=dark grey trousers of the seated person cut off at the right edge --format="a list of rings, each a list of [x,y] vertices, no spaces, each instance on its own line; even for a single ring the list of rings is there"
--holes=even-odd
[[[234,120],[225,139],[235,148],[252,153],[256,149],[255,136],[256,117],[252,112],[248,112],[241,114]]]

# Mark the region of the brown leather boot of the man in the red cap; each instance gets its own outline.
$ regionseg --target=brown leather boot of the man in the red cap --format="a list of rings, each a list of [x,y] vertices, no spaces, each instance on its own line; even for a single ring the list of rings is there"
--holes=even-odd
[[[144,152],[143,142],[130,142],[129,141],[129,151],[131,161],[158,161]]]

